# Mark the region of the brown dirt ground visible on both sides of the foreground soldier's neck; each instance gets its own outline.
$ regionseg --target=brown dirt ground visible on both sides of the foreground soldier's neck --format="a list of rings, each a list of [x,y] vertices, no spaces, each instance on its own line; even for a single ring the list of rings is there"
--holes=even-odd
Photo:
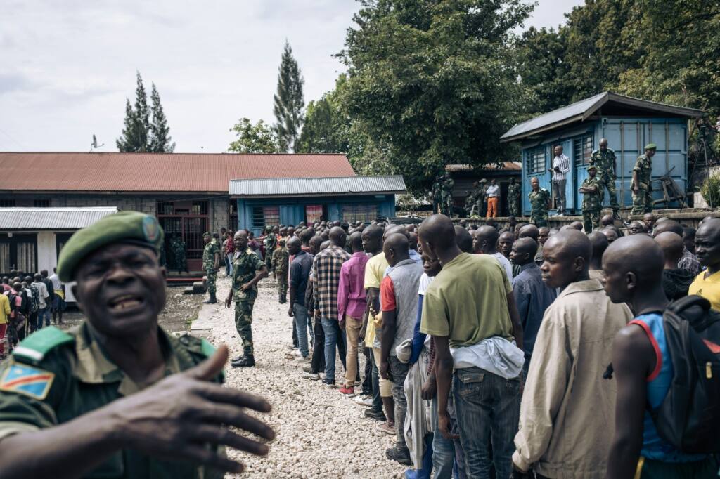
[[[190,324],[197,318],[197,311],[202,306],[202,301],[207,295],[183,294],[181,286],[166,287],[167,300],[165,309],[160,314],[158,322],[167,332],[187,331]],[[75,307],[68,308],[63,313],[63,324],[61,329],[70,329],[85,319],[82,311]]]

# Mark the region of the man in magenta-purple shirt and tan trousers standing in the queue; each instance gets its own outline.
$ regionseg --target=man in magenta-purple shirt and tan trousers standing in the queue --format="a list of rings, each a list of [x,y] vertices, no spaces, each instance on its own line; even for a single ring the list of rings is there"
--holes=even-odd
[[[355,378],[358,373],[358,339],[362,328],[365,301],[365,264],[369,257],[362,248],[361,232],[350,235],[353,255],[340,268],[338,286],[338,324],[345,329],[348,352],[346,357],[345,385],[340,388],[344,396],[355,396]]]

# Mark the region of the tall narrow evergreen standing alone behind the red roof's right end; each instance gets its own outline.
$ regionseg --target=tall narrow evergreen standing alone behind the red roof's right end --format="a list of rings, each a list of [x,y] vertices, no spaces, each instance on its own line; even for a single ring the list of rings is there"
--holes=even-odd
[[[280,150],[287,152],[294,150],[295,142],[300,137],[302,128],[303,107],[305,99],[302,96],[302,79],[297,61],[292,56],[290,44],[285,41],[282,60],[277,75],[277,93],[273,96],[276,123],[273,125],[277,135]]]

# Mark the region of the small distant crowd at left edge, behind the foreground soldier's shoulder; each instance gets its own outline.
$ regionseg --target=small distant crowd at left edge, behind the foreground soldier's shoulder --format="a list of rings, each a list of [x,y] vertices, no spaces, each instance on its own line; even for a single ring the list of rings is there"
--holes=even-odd
[[[62,324],[65,311],[65,285],[48,270],[24,273],[11,270],[2,278],[0,296],[0,360],[28,334]]]

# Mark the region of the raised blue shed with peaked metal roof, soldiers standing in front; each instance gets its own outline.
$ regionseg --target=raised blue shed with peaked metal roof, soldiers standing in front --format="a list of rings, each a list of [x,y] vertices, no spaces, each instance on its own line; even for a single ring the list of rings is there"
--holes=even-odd
[[[655,143],[652,177],[660,178],[672,169],[672,178],[683,191],[688,181],[688,118],[701,117],[702,111],[672,106],[604,92],[577,101],[539,117],[518,123],[500,137],[500,142],[521,142],[523,164],[523,213],[530,213],[528,193],[530,180],[536,176],[541,188],[552,192],[553,150],[562,145],[570,158],[565,197],[567,209],[580,211],[582,195],[578,193],[587,178],[586,167],[600,138],[607,138],[608,147],[617,158],[618,203],[631,206],[630,183],[632,168],[647,143]],[[673,169],[674,168],[674,169]],[[654,183],[654,199],[662,197]],[[609,205],[605,195],[606,206]],[[669,205],[668,205],[669,206]],[[554,207],[554,199],[553,199]]]

